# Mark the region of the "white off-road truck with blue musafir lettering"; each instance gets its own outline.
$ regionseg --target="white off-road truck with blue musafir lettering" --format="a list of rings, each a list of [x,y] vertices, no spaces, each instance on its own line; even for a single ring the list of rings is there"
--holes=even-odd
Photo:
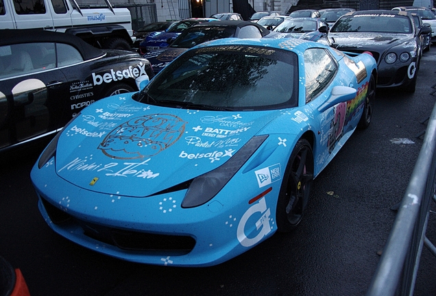
[[[0,0],[0,29],[48,29],[104,49],[125,49],[136,39],[127,8],[80,8],[76,0]]]

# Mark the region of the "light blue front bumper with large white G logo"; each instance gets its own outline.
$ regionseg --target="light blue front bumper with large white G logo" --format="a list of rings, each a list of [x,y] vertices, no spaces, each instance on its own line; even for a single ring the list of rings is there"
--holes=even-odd
[[[240,193],[225,187],[203,206],[182,208],[186,190],[144,198],[96,193],[58,177],[53,162],[34,167],[31,173],[45,221],[65,238],[108,256],[146,264],[211,266],[247,251],[276,231],[271,217],[275,217],[278,188],[265,197],[271,209],[250,215],[253,221],[263,219],[268,227],[260,225],[259,230],[258,223],[242,227],[247,240],[259,238],[244,247],[239,226],[252,207],[247,201],[258,195],[256,183]],[[234,204],[219,196],[231,197]],[[265,216],[270,216],[266,222]]]

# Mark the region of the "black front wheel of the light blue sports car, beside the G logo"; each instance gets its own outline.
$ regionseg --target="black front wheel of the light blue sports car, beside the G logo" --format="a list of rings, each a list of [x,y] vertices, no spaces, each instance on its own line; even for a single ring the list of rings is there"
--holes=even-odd
[[[284,172],[277,201],[279,232],[289,232],[303,218],[313,183],[312,147],[304,138],[295,144]]]

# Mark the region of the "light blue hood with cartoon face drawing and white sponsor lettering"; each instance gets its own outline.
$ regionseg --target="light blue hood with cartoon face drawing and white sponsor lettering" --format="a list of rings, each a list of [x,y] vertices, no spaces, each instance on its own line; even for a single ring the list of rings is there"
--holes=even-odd
[[[146,197],[219,167],[280,115],[166,108],[131,95],[97,101],[64,127],[60,177],[86,190]]]

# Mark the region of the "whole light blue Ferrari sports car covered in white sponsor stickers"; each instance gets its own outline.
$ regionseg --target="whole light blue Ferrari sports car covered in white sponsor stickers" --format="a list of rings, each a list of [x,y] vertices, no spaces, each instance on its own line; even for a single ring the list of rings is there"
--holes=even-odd
[[[372,118],[376,62],[296,38],[182,53],[96,101],[32,169],[58,234],[123,260],[210,266],[302,220],[313,179]]]

